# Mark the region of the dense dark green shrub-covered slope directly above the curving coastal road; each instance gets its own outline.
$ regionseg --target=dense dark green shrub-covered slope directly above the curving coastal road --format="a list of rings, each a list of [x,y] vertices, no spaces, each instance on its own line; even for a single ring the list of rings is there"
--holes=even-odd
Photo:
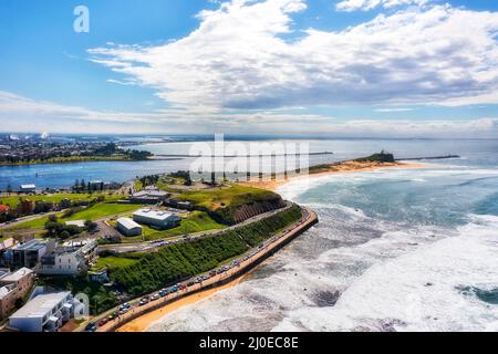
[[[236,230],[167,246],[155,253],[143,256],[132,266],[115,268],[111,271],[111,278],[133,295],[149,293],[217,268],[224,261],[258,246],[301,217],[301,208],[293,206]],[[113,260],[113,263],[116,261]]]

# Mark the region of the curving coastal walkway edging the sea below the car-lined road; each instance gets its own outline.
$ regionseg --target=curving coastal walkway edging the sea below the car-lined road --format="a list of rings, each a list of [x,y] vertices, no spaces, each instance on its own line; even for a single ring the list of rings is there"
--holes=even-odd
[[[234,267],[229,270],[227,270],[225,273],[214,275],[200,283],[196,283],[191,287],[186,288],[185,290],[180,290],[177,293],[168,294],[164,298],[160,298],[159,300],[156,300],[154,302],[149,302],[145,305],[139,306],[138,305],[138,299],[135,301],[132,301],[132,309],[129,312],[120,315],[117,319],[112,320],[104,324],[103,326],[100,326],[97,329],[97,332],[115,332],[118,331],[122,326],[125,324],[132,322],[135,319],[138,319],[139,316],[149,313],[152,311],[158,310],[163,306],[166,306],[168,304],[172,304],[180,299],[184,299],[186,296],[201,293],[208,290],[216,290],[216,288],[222,287],[245,274],[247,274],[250,270],[252,270],[255,267],[259,266],[262,261],[264,261],[267,258],[274,254],[277,251],[279,251],[281,248],[283,248],[286,244],[291,242],[293,239],[295,239],[299,235],[303,233],[308,229],[310,229],[312,226],[319,222],[319,219],[314,211],[310,209],[303,208],[303,216],[301,220],[299,220],[293,226],[287,228],[286,230],[274,235],[269,240],[267,240],[261,248],[252,250],[249,252],[250,257],[242,258],[240,260],[239,266]],[[243,256],[241,256],[243,257]],[[112,311],[111,311],[112,312]],[[108,314],[107,312],[106,314]],[[105,314],[102,314],[95,319],[92,320],[92,322],[98,322],[98,320],[105,317]],[[145,329],[141,329],[145,330]],[[81,327],[80,327],[81,331]]]

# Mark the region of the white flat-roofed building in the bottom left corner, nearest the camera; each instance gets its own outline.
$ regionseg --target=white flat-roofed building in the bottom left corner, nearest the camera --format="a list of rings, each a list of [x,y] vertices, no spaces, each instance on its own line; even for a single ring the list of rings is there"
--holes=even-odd
[[[56,332],[82,304],[69,291],[40,293],[9,317],[9,327],[21,332]]]

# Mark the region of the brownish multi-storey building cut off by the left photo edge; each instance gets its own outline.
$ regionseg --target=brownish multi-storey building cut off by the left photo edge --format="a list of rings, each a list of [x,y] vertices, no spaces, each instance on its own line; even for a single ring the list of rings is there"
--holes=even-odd
[[[15,310],[17,301],[28,294],[33,283],[34,273],[28,268],[0,275],[0,320]]]

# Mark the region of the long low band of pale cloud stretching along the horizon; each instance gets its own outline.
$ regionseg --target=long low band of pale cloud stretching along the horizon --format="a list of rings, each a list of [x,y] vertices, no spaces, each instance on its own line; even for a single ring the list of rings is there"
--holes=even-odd
[[[168,110],[154,113],[100,112],[29,100],[0,91],[0,132],[310,134],[329,137],[477,137],[498,138],[498,118],[469,121],[351,119],[315,114],[252,114]]]

